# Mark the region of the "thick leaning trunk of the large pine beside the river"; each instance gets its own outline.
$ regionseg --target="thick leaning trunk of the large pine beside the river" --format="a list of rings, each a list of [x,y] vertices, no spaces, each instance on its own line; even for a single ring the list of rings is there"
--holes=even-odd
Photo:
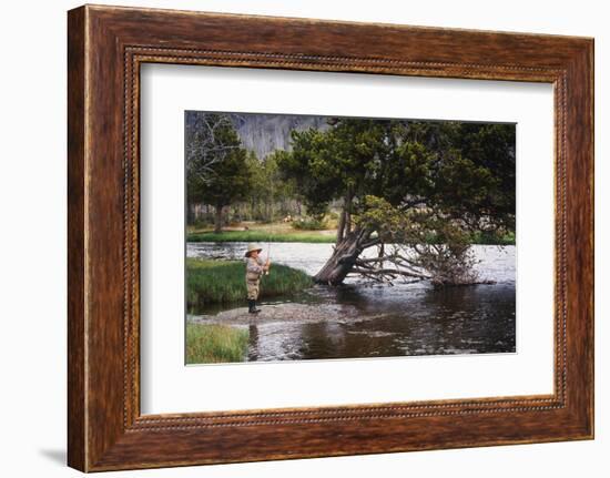
[[[337,243],[333,255],[326,264],[314,276],[317,284],[339,285],[354,267],[354,263],[364,251],[370,235],[369,231],[352,231],[345,235],[340,243]]]

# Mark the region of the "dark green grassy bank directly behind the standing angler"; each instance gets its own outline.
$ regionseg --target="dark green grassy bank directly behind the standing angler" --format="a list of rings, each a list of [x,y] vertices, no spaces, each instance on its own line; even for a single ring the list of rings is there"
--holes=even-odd
[[[274,264],[261,281],[261,297],[294,294],[312,285],[302,271]],[[186,305],[189,311],[214,303],[244,302],[245,263],[241,261],[186,260]]]

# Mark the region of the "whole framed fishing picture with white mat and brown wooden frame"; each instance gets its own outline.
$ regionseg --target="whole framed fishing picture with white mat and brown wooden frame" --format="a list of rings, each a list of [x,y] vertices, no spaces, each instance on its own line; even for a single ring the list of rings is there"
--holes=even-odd
[[[68,461],[593,438],[593,40],[68,14]]]

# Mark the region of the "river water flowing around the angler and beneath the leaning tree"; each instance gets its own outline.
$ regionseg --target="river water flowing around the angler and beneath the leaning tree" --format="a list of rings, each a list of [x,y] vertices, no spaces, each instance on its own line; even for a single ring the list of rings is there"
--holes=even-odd
[[[189,243],[189,257],[243,258],[246,243]],[[263,244],[274,263],[315,274],[332,244]],[[434,288],[426,282],[394,286],[348,279],[342,287],[315,286],[291,302],[337,304],[358,313],[356,321],[252,321],[248,362],[389,357],[406,355],[516,352],[516,247],[475,245],[481,279],[495,284]],[[277,302],[263,302],[273,306]],[[243,306],[238,304],[236,306]],[[235,307],[235,306],[233,306]],[[232,308],[225,306],[226,308]],[[346,308],[347,309],[347,308]],[[215,314],[221,308],[197,311]]]

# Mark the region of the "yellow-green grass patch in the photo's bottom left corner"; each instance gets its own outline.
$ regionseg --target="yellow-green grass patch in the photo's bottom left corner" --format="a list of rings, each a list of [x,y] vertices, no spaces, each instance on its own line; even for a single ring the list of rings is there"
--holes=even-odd
[[[186,363],[244,362],[248,332],[226,325],[186,324]]]

